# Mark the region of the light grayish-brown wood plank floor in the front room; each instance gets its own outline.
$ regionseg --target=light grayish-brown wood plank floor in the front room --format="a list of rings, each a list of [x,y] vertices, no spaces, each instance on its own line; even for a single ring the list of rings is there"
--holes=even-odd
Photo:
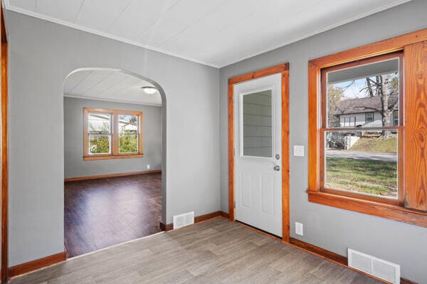
[[[223,218],[73,258],[11,283],[378,283]]]

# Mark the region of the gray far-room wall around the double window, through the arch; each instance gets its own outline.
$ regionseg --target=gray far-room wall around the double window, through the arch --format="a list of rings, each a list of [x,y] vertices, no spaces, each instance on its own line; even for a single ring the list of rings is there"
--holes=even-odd
[[[142,111],[143,158],[83,160],[83,108]],[[64,97],[65,178],[162,169],[162,108]]]

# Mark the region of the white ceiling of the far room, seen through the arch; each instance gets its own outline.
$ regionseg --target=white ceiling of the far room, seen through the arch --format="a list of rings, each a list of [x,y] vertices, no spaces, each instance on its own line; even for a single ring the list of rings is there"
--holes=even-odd
[[[141,87],[153,84],[120,70],[83,70],[65,80],[64,96],[132,104],[162,105],[159,92],[147,94]]]

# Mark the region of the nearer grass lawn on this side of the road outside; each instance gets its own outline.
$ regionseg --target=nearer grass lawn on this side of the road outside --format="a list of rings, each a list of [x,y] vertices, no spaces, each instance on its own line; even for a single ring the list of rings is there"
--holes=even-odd
[[[396,197],[397,165],[379,160],[327,158],[325,187]]]

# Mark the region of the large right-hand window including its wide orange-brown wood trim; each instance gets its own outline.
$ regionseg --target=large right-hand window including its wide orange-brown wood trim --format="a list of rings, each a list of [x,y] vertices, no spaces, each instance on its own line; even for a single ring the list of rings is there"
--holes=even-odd
[[[419,33],[310,60],[310,202],[427,226]]]

